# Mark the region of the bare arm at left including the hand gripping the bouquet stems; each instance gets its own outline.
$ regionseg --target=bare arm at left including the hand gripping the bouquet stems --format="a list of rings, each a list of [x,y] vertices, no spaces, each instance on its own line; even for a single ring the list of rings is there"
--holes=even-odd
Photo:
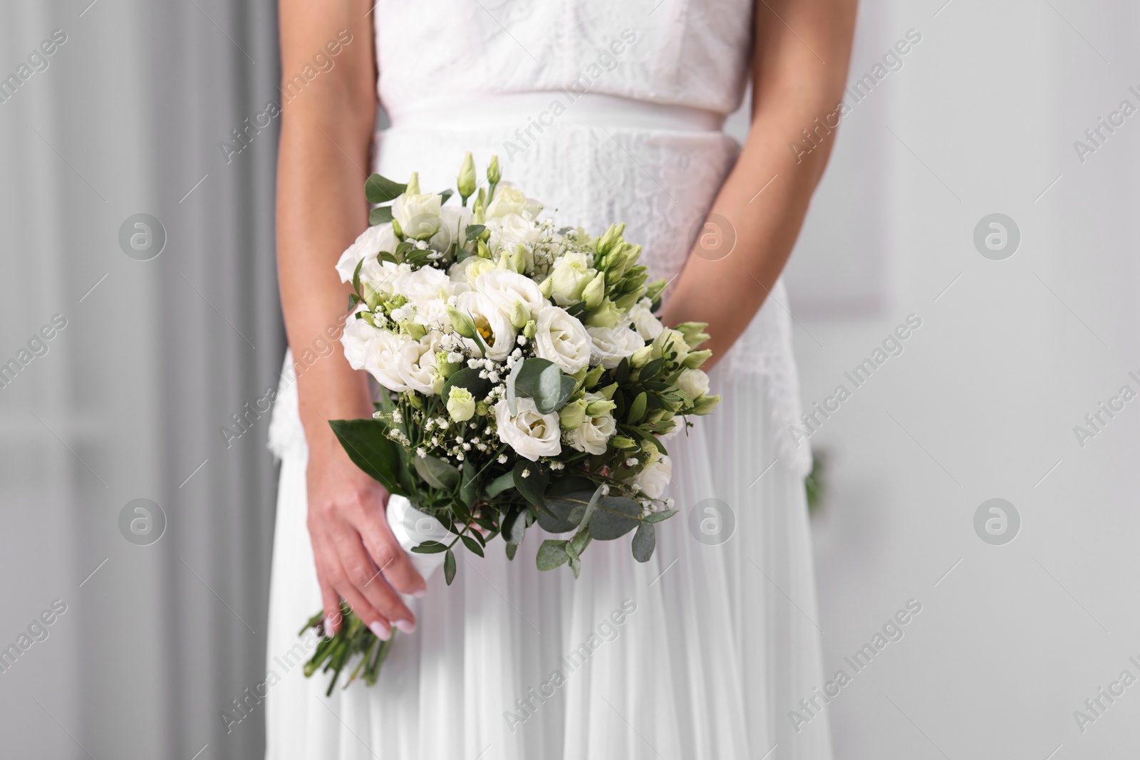
[[[294,357],[323,345],[326,330],[343,324],[349,291],[334,264],[368,224],[364,172],[376,116],[369,6],[280,0],[286,104],[277,163],[277,263]],[[329,41],[339,43],[335,56]],[[293,74],[318,71],[318,54],[319,74],[298,91]],[[381,638],[389,623],[409,630],[414,618],[392,586],[412,594],[424,582],[383,517],[388,495],[349,460],[327,422],[372,415],[366,377],[349,367],[337,346],[301,374],[298,392],[309,444],[308,525],[325,614],[339,627],[342,597]]]

